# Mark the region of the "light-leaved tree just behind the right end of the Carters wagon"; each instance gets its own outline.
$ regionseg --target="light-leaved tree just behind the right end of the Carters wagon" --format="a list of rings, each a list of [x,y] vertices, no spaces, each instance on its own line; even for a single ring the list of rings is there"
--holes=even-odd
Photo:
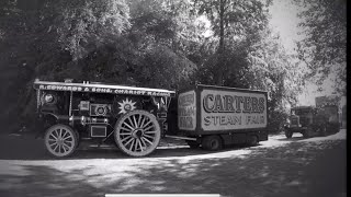
[[[246,81],[250,89],[268,92],[269,129],[279,131],[287,117],[286,105],[295,105],[304,84],[305,69],[287,55],[280,37],[267,28],[262,39],[250,47]]]

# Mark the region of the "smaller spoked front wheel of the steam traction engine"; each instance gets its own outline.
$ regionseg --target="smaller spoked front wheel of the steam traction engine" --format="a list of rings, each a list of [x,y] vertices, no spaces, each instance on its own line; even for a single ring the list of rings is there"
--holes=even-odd
[[[77,134],[66,125],[54,125],[45,132],[44,141],[46,150],[54,157],[68,157],[77,148]]]

